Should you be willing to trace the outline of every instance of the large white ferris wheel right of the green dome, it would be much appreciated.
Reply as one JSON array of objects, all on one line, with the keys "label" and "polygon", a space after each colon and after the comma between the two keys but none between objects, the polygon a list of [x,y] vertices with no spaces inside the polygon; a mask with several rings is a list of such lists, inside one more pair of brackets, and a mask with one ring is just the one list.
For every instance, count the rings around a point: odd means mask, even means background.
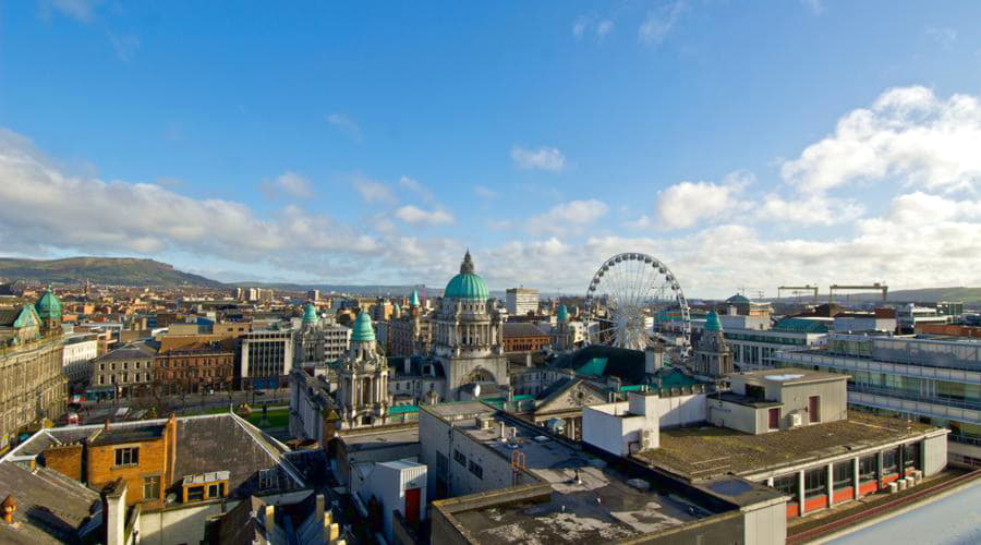
[{"label": "large white ferris wheel right of the green dome", "polygon": [[[644,350],[654,337],[677,339],[688,352],[691,316],[677,277],[647,254],[617,254],[600,266],[586,290],[585,310],[595,325],[588,327],[591,344]],[[666,324],[654,332],[647,319]]]}]

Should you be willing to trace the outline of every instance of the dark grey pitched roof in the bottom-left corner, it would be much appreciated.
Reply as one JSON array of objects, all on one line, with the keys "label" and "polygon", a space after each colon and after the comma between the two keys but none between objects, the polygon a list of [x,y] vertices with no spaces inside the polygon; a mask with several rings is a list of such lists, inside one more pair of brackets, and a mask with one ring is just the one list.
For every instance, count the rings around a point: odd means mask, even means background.
[{"label": "dark grey pitched roof in the bottom-left corner", "polygon": [[[14,463],[0,463],[0,499],[13,494],[17,502],[11,528],[0,522],[0,543],[76,542],[89,517],[101,509],[99,495],[57,471],[35,472]],[[98,516],[100,517],[100,516]]]}]

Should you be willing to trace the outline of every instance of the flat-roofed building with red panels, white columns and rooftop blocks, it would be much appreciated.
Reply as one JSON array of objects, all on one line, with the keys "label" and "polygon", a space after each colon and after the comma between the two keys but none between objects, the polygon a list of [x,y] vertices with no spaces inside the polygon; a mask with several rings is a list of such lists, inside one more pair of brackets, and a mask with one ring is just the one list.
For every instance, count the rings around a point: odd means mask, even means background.
[{"label": "flat-roofed building with red panels, white columns and rooftop blocks", "polygon": [[[947,431],[846,410],[846,377],[783,368],[736,373],[731,390],[669,403],[658,392],[583,409],[583,441],[691,483],[736,475],[789,496],[803,517],[931,476]],[[712,425],[706,425],[712,424]]]}]

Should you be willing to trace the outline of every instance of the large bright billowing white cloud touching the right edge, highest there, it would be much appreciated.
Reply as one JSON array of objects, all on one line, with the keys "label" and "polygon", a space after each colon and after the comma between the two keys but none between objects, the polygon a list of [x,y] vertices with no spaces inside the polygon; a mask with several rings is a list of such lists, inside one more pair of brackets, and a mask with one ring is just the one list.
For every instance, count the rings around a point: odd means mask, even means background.
[{"label": "large bright billowing white cloud touching the right edge, highest there", "polygon": [[927,190],[977,191],[979,142],[978,97],[944,100],[925,87],[899,87],[843,117],[834,134],[784,162],[780,173],[804,192],[892,178]]}]

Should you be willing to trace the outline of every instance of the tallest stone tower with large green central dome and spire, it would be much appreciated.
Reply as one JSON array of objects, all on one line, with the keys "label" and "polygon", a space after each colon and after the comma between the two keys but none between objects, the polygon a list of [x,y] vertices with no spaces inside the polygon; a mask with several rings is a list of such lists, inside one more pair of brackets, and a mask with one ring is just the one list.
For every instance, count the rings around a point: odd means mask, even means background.
[{"label": "tallest stone tower with large green central dome and spire", "polygon": [[501,316],[473,265],[463,256],[460,274],[446,284],[434,317],[433,353],[446,375],[444,400],[459,400],[465,386],[508,385],[508,361],[500,337]]}]

